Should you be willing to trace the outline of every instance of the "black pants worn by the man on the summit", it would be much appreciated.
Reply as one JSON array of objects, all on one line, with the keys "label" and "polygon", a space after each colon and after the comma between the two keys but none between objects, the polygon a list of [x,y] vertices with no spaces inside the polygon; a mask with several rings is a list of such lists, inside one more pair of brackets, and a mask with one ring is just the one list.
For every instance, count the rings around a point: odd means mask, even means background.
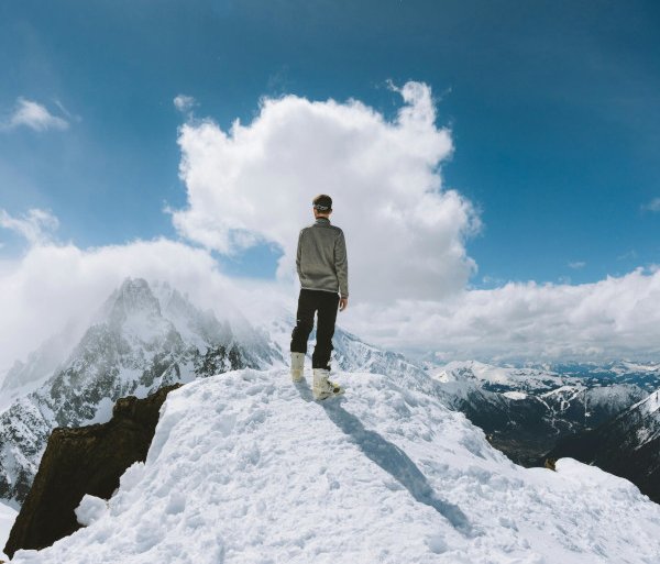
[{"label": "black pants worn by the man on the summit", "polygon": [[311,355],[312,368],[330,369],[332,335],[339,307],[339,294],[300,288],[296,327],[292,333],[292,352],[307,353],[307,340],[314,329],[314,314],[318,311],[317,343]]}]

